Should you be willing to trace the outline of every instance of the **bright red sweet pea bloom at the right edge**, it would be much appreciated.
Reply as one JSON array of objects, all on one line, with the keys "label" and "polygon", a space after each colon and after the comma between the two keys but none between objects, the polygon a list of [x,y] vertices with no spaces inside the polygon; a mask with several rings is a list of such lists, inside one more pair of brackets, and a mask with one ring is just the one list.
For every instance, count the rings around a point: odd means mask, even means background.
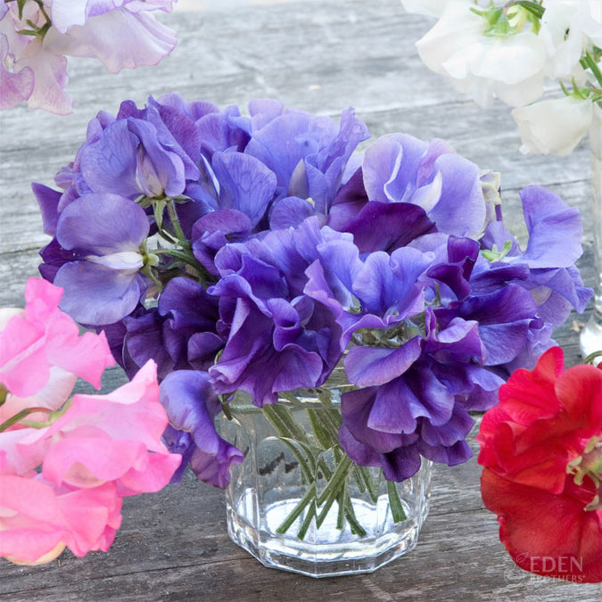
[{"label": "bright red sweet pea bloom at the right edge", "polygon": [[526,571],[602,581],[602,369],[559,347],[499,389],[477,440],[482,499]]}]

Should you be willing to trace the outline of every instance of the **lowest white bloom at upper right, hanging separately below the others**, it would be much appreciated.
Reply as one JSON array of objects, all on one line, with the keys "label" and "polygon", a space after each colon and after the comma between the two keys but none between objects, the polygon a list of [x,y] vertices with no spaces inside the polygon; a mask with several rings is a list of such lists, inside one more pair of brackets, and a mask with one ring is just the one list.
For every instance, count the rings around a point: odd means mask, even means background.
[{"label": "lowest white bloom at upper right, hanging separately below the others", "polygon": [[512,111],[521,133],[522,153],[565,156],[573,153],[590,128],[593,103],[576,96],[564,96],[533,103]]}]

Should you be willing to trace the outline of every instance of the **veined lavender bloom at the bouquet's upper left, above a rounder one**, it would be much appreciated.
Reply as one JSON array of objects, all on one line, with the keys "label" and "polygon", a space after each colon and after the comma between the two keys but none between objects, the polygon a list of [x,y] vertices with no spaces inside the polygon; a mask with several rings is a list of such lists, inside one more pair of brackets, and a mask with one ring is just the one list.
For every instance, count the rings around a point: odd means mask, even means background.
[{"label": "veined lavender bloom at the bouquet's upper left, above a rounder one", "polygon": [[[125,101],[117,118],[101,111],[88,123],[86,143],[75,161],[55,177],[64,192],[33,186],[45,232],[53,234],[62,210],[82,194],[119,194],[134,201],[141,195],[179,197],[188,194],[190,187],[194,200],[179,199],[178,203],[180,226],[190,236],[194,221],[214,209],[210,206],[215,203],[214,184],[210,177],[205,178],[201,137],[194,119],[179,110],[173,96],[166,103],[151,97],[143,109]],[[58,200],[56,194],[60,194]],[[150,208],[148,212],[152,214]],[[169,224],[168,216],[165,221]]]}]

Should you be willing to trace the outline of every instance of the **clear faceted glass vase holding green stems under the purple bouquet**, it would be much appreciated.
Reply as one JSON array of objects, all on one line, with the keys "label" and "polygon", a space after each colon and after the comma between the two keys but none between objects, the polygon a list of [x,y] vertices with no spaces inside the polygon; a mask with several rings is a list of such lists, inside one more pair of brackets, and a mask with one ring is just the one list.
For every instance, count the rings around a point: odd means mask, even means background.
[{"label": "clear faceted glass vase holding green stems under the purple bouquet", "polygon": [[[344,372],[336,370],[339,376]],[[431,462],[388,482],[338,444],[346,383],[287,393],[261,410],[237,395],[223,436],[245,454],[227,488],[232,540],[262,565],[312,577],[371,573],[416,547]]]}]

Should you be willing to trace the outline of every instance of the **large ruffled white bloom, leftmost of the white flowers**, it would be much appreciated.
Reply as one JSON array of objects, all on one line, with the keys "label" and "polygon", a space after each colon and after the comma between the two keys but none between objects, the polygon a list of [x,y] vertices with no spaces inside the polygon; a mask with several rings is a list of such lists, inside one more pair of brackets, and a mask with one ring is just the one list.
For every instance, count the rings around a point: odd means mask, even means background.
[{"label": "large ruffled white bloom, leftmost of the white flowers", "polygon": [[537,100],[548,58],[544,40],[527,28],[485,35],[488,23],[471,7],[465,0],[445,4],[441,19],[416,43],[422,60],[483,107],[494,96],[511,106]]}]

